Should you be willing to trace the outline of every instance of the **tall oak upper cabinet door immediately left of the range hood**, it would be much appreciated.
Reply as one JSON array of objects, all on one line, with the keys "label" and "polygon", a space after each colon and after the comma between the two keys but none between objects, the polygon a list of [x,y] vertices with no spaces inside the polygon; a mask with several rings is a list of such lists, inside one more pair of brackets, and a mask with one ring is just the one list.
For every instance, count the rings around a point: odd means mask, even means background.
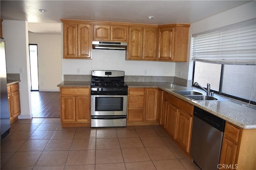
[{"label": "tall oak upper cabinet door immediately left of the range hood", "polygon": [[91,25],[78,24],[78,57],[91,59]]}]

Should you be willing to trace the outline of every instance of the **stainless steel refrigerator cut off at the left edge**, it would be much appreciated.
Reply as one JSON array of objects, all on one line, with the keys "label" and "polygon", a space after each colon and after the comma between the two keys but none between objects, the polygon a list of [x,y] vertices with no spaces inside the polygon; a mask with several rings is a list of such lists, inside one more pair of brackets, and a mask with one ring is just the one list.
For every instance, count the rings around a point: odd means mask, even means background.
[{"label": "stainless steel refrigerator cut off at the left edge", "polygon": [[10,130],[10,114],[9,103],[7,96],[7,79],[6,79],[6,58],[5,58],[5,45],[4,39],[0,38],[0,128],[1,128],[1,141],[9,134]]}]

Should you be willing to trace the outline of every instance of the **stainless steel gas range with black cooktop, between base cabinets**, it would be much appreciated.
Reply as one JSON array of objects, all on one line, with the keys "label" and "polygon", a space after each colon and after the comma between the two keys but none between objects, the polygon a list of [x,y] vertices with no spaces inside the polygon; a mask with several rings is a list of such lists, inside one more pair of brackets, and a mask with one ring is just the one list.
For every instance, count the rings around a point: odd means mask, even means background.
[{"label": "stainless steel gas range with black cooktop, between base cabinets", "polygon": [[91,127],[124,127],[128,86],[124,71],[92,70]]}]

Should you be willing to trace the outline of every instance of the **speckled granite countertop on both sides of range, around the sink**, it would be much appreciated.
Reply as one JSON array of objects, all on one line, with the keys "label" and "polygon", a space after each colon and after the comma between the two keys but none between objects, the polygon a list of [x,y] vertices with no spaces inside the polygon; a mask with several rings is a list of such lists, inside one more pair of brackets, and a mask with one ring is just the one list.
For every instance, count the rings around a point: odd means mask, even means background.
[{"label": "speckled granite countertop on both sides of range, around the sink", "polygon": [[[91,82],[79,82],[79,81],[64,81],[58,84],[58,87],[90,87]],[[165,92],[172,94],[196,107],[200,107],[212,113],[222,119],[241,127],[242,129],[256,129],[256,106],[243,106],[244,102],[239,102],[224,96],[214,94],[216,97],[221,97],[225,100],[223,101],[194,101],[192,99],[186,98],[178,93],[173,92],[173,90],[197,90],[205,94],[204,91],[194,88],[185,87],[179,85],[173,85],[166,82],[126,82],[128,87],[138,87],[138,88],[160,88]]]}]

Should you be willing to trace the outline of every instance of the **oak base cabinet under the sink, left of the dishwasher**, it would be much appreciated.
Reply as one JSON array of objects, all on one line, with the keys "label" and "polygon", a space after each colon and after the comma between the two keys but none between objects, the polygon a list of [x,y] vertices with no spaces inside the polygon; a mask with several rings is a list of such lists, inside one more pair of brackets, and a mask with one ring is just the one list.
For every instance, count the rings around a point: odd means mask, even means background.
[{"label": "oak base cabinet under the sink, left of the dishwasher", "polygon": [[168,94],[166,131],[187,153],[190,151],[194,106]]}]

